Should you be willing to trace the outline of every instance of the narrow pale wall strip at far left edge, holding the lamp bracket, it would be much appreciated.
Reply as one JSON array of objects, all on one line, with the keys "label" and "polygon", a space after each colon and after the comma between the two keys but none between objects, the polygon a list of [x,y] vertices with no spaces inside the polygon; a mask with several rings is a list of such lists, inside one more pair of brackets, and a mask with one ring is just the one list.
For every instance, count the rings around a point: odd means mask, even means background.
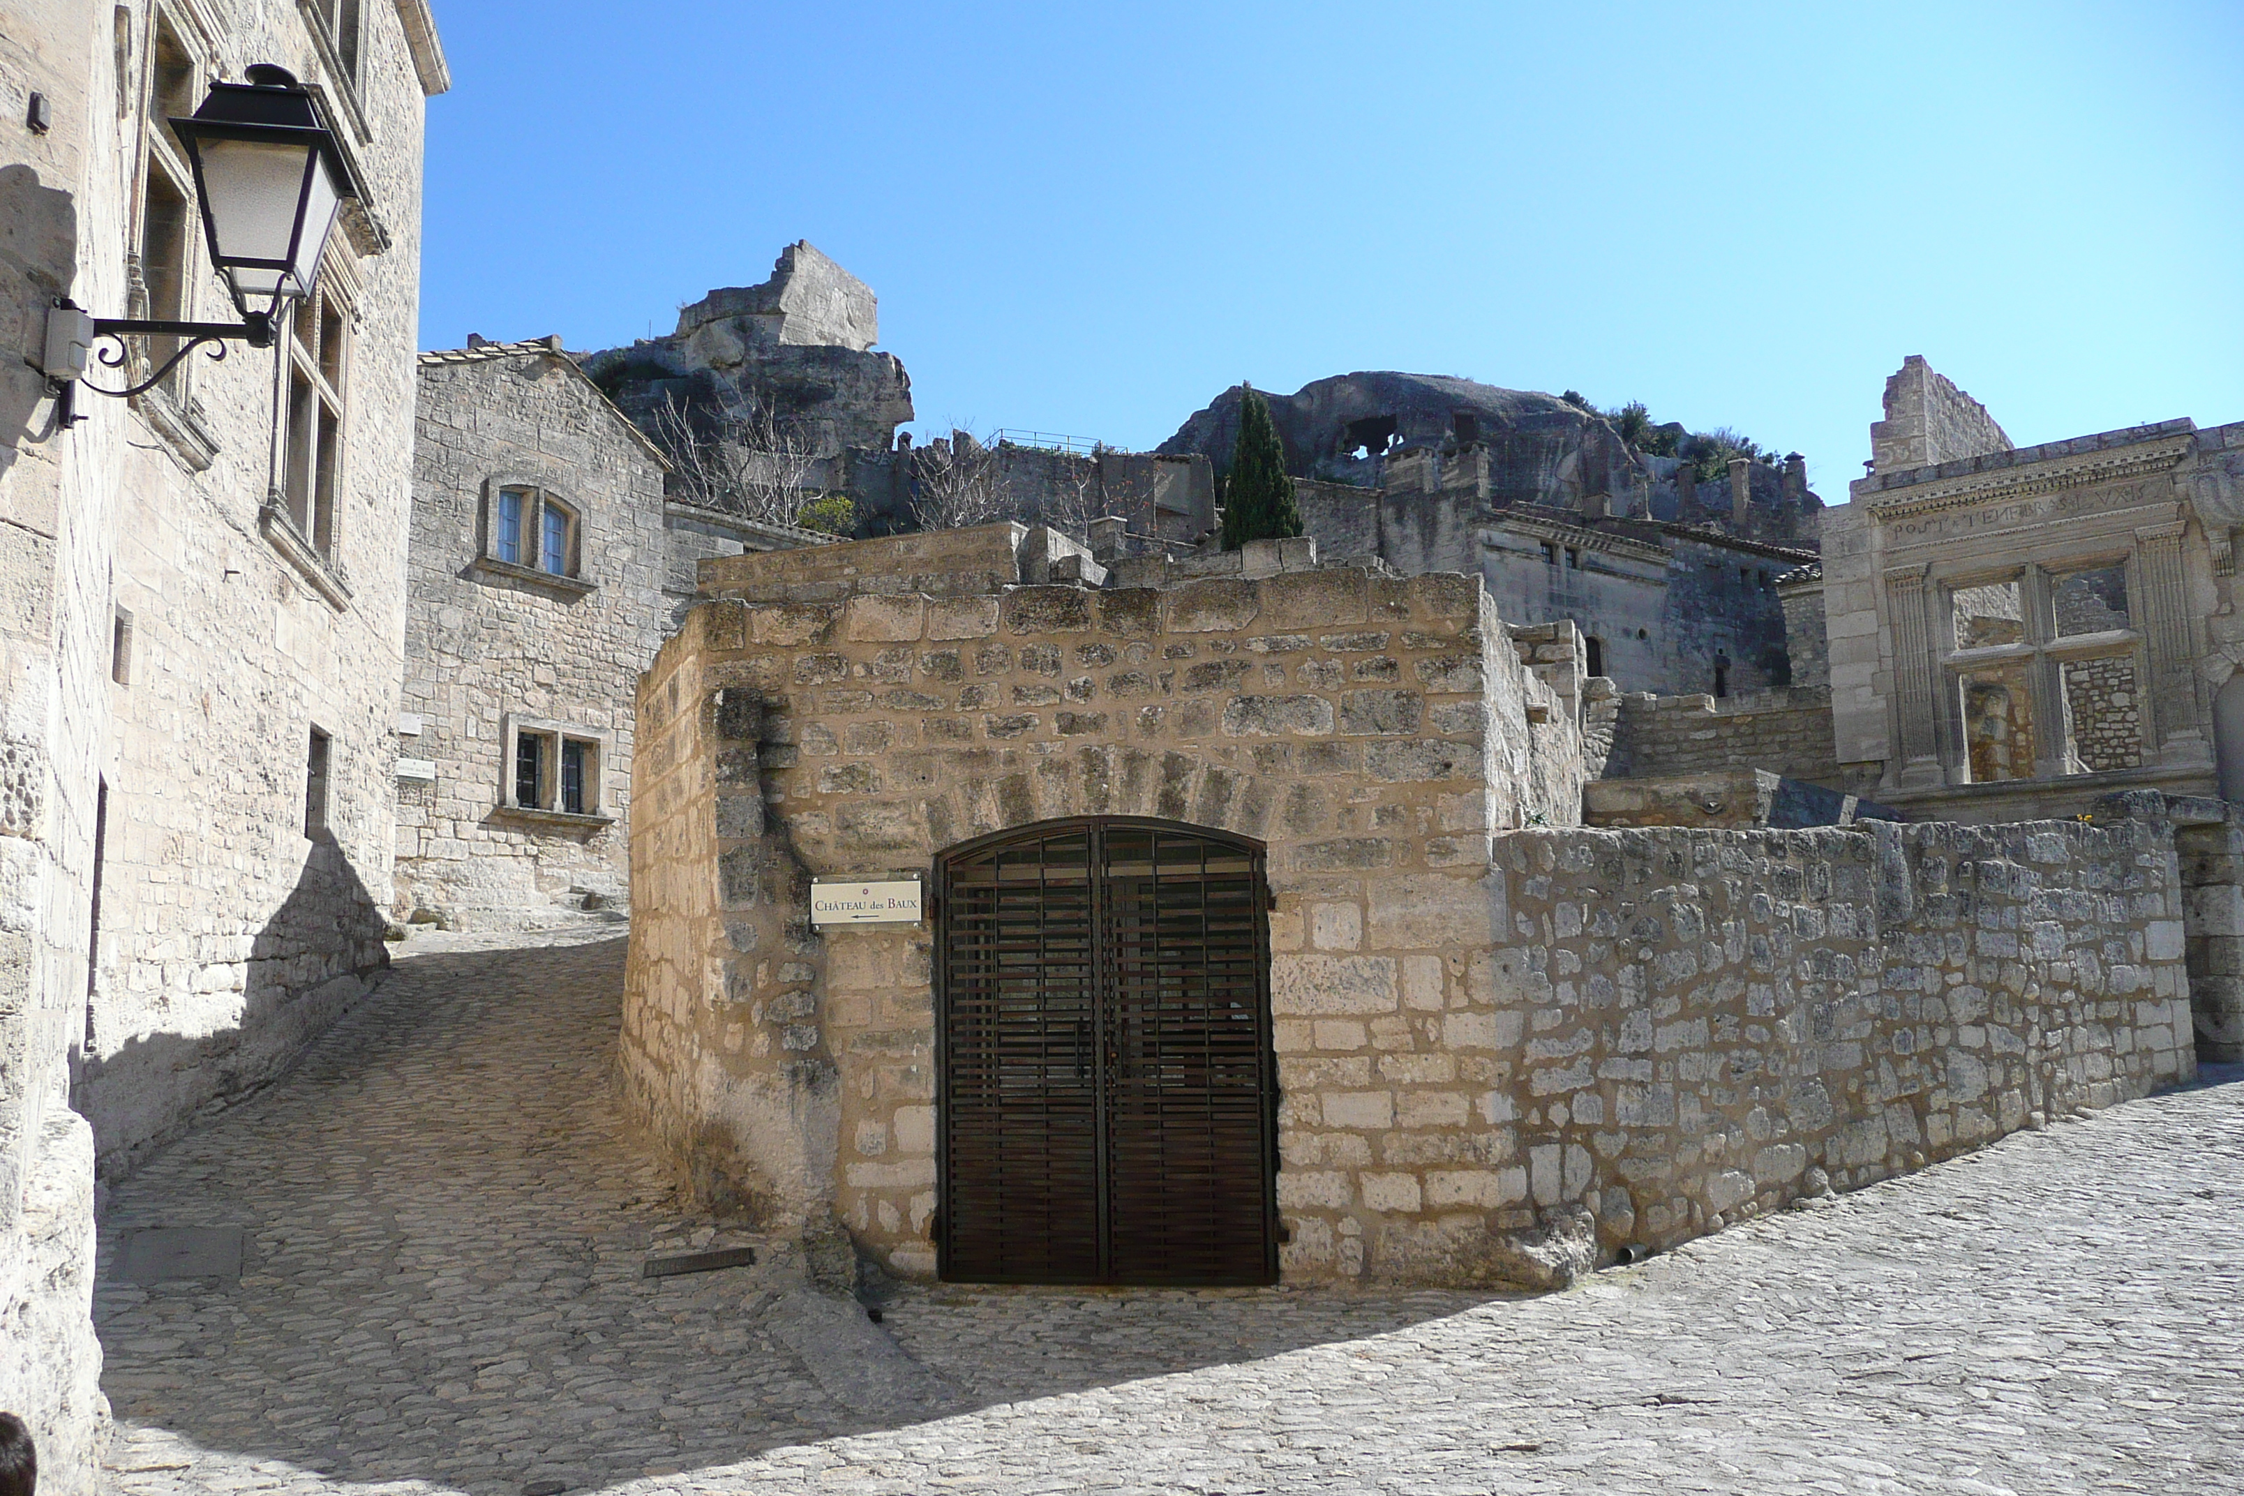
[{"label": "narrow pale wall strip at far left edge, holding the lamp bracket", "polygon": [[[65,431],[38,361],[56,296],[119,305],[121,236],[108,16],[0,0],[0,1409],[20,1413],[43,1487],[94,1489],[108,1424],[94,1339],[94,1139],[70,1083],[85,1034],[88,913],[123,422]],[[56,130],[25,128],[47,96]],[[114,404],[114,401],[112,401]]]}]

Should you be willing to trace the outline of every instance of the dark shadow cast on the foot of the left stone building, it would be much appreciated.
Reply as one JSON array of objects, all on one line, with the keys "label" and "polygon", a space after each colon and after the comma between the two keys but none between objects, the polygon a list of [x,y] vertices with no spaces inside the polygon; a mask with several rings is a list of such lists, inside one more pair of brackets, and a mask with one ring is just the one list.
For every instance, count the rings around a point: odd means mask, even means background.
[{"label": "dark shadow cast on the foot of the left stone building", "polygon": [[[110,897],[110,908],[119,899]],[[119,915],[121,917],[121,915]],[[184,953],[164,962],[193,987],[182,998],[186,1014],[220,1007],[222,991],[200,982],[231,982],[238,967],[240,1012],[229,1027],[209,1034],[146,1034],[121,1047],[83,1059],[74,1083],[76,1110],[94,1126],[99,1175],[112,1184],[141,1160],[197,1126],[238,1106],[283,1077],[337,1018],[368,996],[388,964],[381,942],[386,917],[366,879],[332,837],[312,841],[296,884],[265,924],[249,935],[247,951],[236,938],[209,931],[173,931]],[[166,942],[166,931],[155,931]],[[117,980],[103,973],[103,980]],[[94,1007],[94,1047],[101,1050],[101,1014]]]}]

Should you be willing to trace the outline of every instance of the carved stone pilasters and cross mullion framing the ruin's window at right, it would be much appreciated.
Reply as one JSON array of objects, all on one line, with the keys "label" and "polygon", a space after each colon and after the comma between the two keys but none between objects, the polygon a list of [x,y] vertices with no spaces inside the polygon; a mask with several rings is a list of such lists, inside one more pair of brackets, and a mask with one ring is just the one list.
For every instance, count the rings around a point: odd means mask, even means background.
[{"label": "carved stone pilasters and cross mullion framing the ruin's window at right", "polygon": [[[2127,567],[2127,628],[2112,628],[2094,635],[2058,635],[2056,579],[2100,565]],[[1986,561],[1961,561],[1932,570],[1932,599],[1939,608],[1937,653],[1941,666],[1941,763],[1950,785],[1972,783],[2017,783],[1975,781],[1970,776],[1970,742],[1964,722],[1964,677],[1979,666],[2026,664],[2026,682],[2033,707],[2033,778],[2080,778],[2064,772],[2064,733],[2047,731],[2042,724],[2064,722],[2064,677],[2067,664],[2091,659],[2127,659],[2134,666],[2134,693],[2148,702],[2150,655],[2143,567],[2136,547],[2100,545],[2082,552],[2042,554],[2031,561],[1988,565]],[[2020,615],[2024,641],[1993,644],[1981,648],[1957,648],[1955,641],[1955,594],[1961,588],[1986,588],[2015,581],[2020,590]],[[2156,756],[2156,738],[2150,711],[2136,713],[2136,751],[2143,765]],[[2089,769],[2094,774],[2094,769]]]}]

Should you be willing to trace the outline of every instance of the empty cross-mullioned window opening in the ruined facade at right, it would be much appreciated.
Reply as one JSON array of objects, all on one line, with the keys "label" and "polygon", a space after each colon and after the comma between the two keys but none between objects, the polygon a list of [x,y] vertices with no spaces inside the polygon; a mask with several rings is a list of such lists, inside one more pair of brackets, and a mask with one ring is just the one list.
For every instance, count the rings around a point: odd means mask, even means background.
[{"label": "empty cross-mullioned window opening in the ruined facade at right", "polygon": [[1948,617],[1968,783],[2143,765],[2125,561],[1966,579],[1948,588]]}]

